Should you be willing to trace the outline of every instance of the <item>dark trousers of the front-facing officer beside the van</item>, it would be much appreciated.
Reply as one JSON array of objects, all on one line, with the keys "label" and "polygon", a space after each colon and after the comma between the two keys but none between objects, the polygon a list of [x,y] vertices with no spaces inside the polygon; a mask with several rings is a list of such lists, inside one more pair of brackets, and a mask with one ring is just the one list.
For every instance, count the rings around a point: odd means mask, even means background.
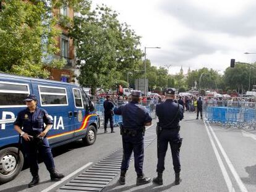
[{"label": "dark trousers of the front-facing officer beside the van", "polygon": [[34,141],[25,141],[22,139],[22,146],[25,154],[27,155],[30,172],[33,177],[38,176],[37,151],[43,157],[43,162],[45,162],[47,170],[50,171],[55,168],[53,154],[51,153],[51,148],[49,147],[47,138],[44,138],[40,144],[36,144]]}]

